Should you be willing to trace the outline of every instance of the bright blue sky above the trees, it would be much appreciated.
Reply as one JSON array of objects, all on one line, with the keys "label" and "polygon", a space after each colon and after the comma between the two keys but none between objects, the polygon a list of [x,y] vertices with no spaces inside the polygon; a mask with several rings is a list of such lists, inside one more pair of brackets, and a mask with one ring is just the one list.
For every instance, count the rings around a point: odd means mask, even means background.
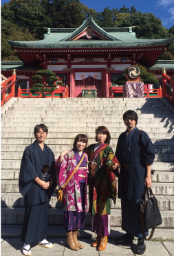
[{"label": "bright blue sky above the trees", "polygon": [[[8,2],[9,0],[1,0],[1,5]],[[165,28],[171,28],[174,25],[174,0],[80,0],[80,2],[89,8],[96,9],[97,12],[102,12],[107,6],[110,9],[113,7],[119,9],[123,5],[128,8],[135,6],[137,11],[151,12],[155,17],[160,18]]]}]

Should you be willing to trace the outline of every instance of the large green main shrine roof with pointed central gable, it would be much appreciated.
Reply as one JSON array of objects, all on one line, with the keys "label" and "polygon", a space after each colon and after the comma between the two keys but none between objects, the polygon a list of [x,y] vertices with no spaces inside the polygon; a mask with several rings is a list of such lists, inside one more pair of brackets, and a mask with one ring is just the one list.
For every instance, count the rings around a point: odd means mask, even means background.
[{"label": "large green main shrine roof with pointed central gable", "polygon": [[[107,40],[84,39],[69,41],[83,32],[87,26],[94,28]],[[47,28],[47,34],[40,41],[8,41],[10,46],[24,48],[127,48],[141,46],[166,46],[173,39],[137,39],[131,27],[100,28],[88,17],[79,28]]]}]

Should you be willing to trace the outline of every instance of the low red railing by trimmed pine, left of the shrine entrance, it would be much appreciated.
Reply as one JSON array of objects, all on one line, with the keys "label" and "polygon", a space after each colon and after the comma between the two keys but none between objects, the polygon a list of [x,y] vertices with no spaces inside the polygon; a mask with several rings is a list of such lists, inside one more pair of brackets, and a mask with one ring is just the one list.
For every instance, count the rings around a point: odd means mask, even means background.
[{"label": "low red railing by trimmed pine, left of the shrine entrance", "polygon": [[[69,89],[67,86],[61,87],[61,88],[54,90],[54,92],[47,92],[46,98],[52,98],[52,97],[67,98],[68,93],[69,93]],[[20,98],[42,98],[43,96],[42,96],[41,92],[32,93],[32,92],[30,92],[30,89],[21,89],[19,86],[17,97],[20,97]]]}]

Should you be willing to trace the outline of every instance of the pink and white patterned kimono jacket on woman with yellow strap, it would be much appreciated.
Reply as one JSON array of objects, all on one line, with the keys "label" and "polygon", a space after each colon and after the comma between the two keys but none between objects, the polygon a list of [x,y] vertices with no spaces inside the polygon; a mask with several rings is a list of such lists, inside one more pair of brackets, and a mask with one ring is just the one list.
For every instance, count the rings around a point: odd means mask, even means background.
[{"label": "pink and white patterned kimono jacket on woman with yellow strap", "polygon": [[[85,153],[83,153],[85,154]],[[83,155],[81,155],[83,157]],[[81,159],[80,157],[80,159]],[[85,160],[87,161],[87,154],[85,154]],[[67,155],[64,156],[63,161],[61,163],[60,173],[59,173],[59,184],[63,187],[69,178],[69,176],[73,173],[74,169],[77,166],[76,156],[74,150],[69,151]],[[80,166],[81,167],[81,166]],[[87,213],[87,175],[88,168],[86,168],[86,186],[85,186],[85,213]],[[75,204],[76,201],[76,204]],[[82,212],[82,200],[80,196],[80,183],[78,177],[78,170],[74,173],[72,179],[68,182],[67,186],[63,189],[63,205],[64,210],[68,211],[78,211]]]}]

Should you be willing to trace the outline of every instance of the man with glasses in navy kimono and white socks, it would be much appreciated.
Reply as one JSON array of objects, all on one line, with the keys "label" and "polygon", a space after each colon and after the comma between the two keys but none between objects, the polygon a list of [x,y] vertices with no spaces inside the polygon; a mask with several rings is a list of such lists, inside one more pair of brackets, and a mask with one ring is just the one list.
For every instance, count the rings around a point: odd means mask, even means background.
[{"label": "man with glasses in navy kimono and white socks", "polygon": [[44,141],[47,137],[47,126],[34,127],[36,141],[25,148],[19,174],[19,190],[25,201],[25,216],[21,233],[23,255],[31,255],[30,244],[52,248],[47,242],[48,207],[54,189],[55,169],[54,154]]}]

